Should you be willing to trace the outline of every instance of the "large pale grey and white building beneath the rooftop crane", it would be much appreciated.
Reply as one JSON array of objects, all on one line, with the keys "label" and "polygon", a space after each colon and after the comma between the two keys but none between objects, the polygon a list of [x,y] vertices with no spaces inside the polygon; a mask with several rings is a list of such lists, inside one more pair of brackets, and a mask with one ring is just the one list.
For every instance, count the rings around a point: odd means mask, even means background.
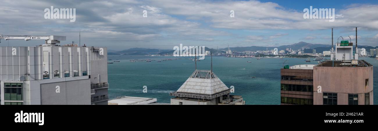
[{"label": "large pale grey and white building beneath the rooftop crane", "polygon": [[107,105],[107,48],[0,47],[1,105]]}]

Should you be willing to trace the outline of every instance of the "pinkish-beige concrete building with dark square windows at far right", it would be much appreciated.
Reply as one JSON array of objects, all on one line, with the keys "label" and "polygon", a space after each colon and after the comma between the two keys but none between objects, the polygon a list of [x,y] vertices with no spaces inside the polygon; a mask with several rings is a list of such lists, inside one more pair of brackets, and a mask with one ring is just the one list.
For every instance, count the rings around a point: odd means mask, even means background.
[{"label": "pinkish-beige concrete building with dark square windows at far right", "polygon": [[359,65],[325,61],[314,66],[314,105],[373,105],[373,66],[358,61]]}]

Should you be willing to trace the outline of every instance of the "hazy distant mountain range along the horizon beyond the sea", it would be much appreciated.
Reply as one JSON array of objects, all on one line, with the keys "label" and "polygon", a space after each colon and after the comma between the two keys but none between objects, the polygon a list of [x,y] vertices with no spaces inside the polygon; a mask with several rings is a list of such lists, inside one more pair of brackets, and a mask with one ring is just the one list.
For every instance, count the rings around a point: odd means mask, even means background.
[{"label": "hazy distant mountain range along the horizon beyond the sea", "polygon": [[[355,47],[355,46],[354,46]],[[285,50],[287,48],[291,48],[292,50],[298,50],[298,49],[304,49],[304,53],[312,53],[312,49],[316,49],[316,53],[322,53],[323,51],[330,51],[331,45],[324,45],[324,44],[311,44],[306,42],[298,42],[293,45],[283,45],[278,47],[264,47],[264,46],[249,46],[249,47],[230,47],[231,51],[237,51],[237,52],[243,52],[243,51],[266,51],[272,50],[274,48],[277,48],[278,50]],[[358,45],[358,48],[365,48],[366,51],[370,51],[370,49],[376,49],[378,46],[364,46],[364,45]],[[223,50],[223,51],[222,51]],[[219,52],[219,53],[225,53],[228,48],[223,49],[210,49],[205,47],[205,51],[212,51],[213,53]],[[149,48],[130,48],[125,49],[122,51],[115,51],[115,50],[108,50],[108,55],[118,55],[118,54],[130,54],[130,55],[136,55],[136,54],[173,54],[173,49],[149,49]]]}]

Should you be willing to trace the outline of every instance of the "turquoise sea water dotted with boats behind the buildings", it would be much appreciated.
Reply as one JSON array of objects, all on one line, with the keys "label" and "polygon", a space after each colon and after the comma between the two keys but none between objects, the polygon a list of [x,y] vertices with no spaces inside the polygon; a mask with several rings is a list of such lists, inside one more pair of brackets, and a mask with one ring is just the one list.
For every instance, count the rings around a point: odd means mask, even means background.
[{"label": "turquoise sea water dotted with boats behind the buildings", "polygon": [[[160,59],[175,59],[157,62]],[[176,91],[194,72],[192,57],[173,56],[144,56],[144,55],[108,55],[109,62],[118,59],[120,62],[108,64],[108,82],[110,98],[117,96],[133,96],[157,98],[160,103],[170,103],[169,92]],[[151,59],[152,62],[129,60]],[[378,60],[373,58],[359,58],[374,66],[374,91],[378,84]],[[280,104],[280,69],[283,62],[288,65],[317,64],[305,62],[304,58],[231,58],[213,56],[213,71],[226,84],[234,86],[233,95],[241,95],[249,105],[279,105]],[[210,57],[197,62],[197,69],[210,69]],[[251,61],[252,63],[247,63]],[[251,78],[251,77],[256,78]],[[147,93],[143,93],[143,86],[147,86]],[[374,104],[377,95],[374,93]]]}]

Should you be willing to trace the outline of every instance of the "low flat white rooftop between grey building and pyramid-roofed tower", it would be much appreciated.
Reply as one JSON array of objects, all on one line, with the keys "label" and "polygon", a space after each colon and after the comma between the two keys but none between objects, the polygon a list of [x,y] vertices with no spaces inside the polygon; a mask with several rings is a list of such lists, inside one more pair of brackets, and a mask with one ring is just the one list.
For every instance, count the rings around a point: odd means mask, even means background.
[{"label": "low flat white rooftop between grey building and pyramid-roofed tower", "polygon": [[108,100],[108,105],[147,105],[156,101],[156,98],[123,96]]}]

